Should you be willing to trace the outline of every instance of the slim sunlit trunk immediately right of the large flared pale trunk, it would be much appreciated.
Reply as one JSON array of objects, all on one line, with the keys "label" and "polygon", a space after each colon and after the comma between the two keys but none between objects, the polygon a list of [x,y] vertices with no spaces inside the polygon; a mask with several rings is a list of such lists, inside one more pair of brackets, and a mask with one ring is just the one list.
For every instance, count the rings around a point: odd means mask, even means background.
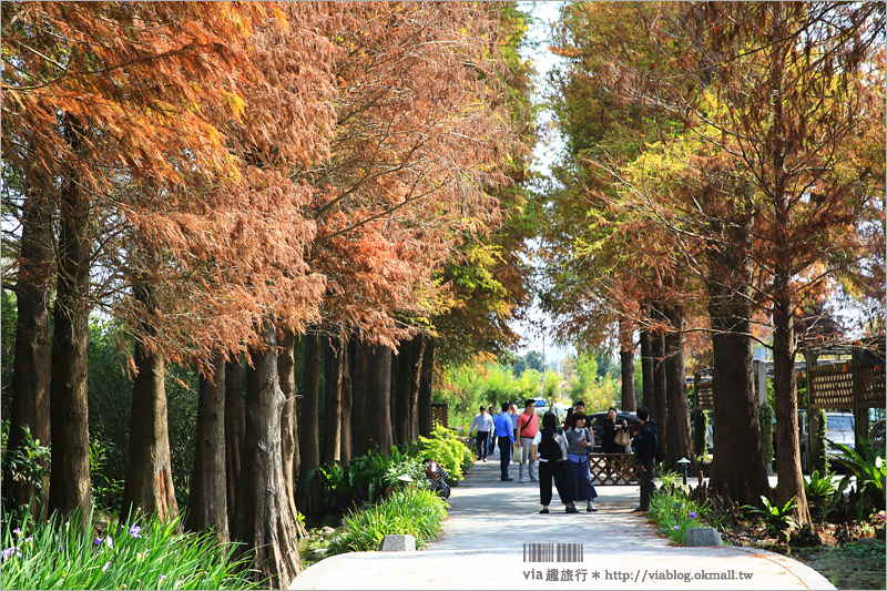
[{"label": "slim sunlit trunk immediately right of the large flared pale trunk", "polygon": [[296,420],[296,336],[285,330],[277,354],[277,379],[284,396],[281,411],[281,456],[283,458],[286,499],[296,513],[296,476],[298,475],[298,426]]}]

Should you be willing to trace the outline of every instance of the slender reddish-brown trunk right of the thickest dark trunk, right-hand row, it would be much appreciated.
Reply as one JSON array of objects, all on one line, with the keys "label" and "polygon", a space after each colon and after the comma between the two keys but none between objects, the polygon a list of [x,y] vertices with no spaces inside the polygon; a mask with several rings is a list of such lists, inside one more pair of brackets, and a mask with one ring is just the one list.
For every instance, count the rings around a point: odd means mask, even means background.
[{"label": "slender reddish-brown trunk right of the thickest dark trunk, right-hand row", "polygon": [[[787,275],[776,271],[776,297],[773,305],[773,394],[776,411],[776,497],[784,506],[793,497],[797,503],[794,518],[798,526],[810,522],[801,470],[801,444],[797,435],[797,389],[795,383],[794,326]],[[717,420],[715,419],[715,429]]]}]

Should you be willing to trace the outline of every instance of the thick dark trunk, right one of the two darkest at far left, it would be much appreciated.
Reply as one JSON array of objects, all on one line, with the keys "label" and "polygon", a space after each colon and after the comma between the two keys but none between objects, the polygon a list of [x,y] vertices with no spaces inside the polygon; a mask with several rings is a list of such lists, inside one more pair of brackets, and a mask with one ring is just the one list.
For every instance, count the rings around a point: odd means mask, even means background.
[{"label": "thick dark trunk, right one of the two darkest at far left", "polygon": [[[77,153],[82,128],[65,116],[65,134]],[[59,273],[53,306],[50,377],[51,452],[49,509],[89,516],[90,430],[86,385],[89,371],[89,197],[70,174],[61,196]],[[82,520],[86,527],[86,519]]]}]

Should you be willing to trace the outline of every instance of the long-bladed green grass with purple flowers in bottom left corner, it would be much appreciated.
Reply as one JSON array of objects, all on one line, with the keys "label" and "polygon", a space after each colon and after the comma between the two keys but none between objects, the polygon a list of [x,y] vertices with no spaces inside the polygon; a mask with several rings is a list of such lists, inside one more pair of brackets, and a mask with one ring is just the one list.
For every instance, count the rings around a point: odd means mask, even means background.
[{"label": "long-bladed green grass with purple flowers in bottom left corner", "polygon": [[[92,522],[92,520],[90,520]],[[3,589],[255,589],[252,559],[212,534],[176,533],[177,520],[141,527],[111,521],[81,532],[74,521],[10,523],[2,532]],[[18,530],[18,531],[17,531]]]}]

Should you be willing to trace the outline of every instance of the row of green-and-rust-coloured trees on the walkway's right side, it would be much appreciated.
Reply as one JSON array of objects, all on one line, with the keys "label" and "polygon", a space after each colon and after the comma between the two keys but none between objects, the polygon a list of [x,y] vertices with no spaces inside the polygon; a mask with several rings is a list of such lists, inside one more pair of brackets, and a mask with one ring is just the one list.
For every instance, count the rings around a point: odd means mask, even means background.
[{"label": "row of green-and-rust-coloured trees on the walkway's right side", "polygon": [[640,332],[643,401],[672,462],[693,457],[684,336],[708,336],[712,486],[741,502],[768,490],[752,353],[769,346],[777,497],[796,498],[798,523],[795,354],[837,297],[884,330],[884,17],[877,3],[577,2],[554,31],[565,150],[544,201],[543,304],[564,334],[618,334],[626,361]]}]

